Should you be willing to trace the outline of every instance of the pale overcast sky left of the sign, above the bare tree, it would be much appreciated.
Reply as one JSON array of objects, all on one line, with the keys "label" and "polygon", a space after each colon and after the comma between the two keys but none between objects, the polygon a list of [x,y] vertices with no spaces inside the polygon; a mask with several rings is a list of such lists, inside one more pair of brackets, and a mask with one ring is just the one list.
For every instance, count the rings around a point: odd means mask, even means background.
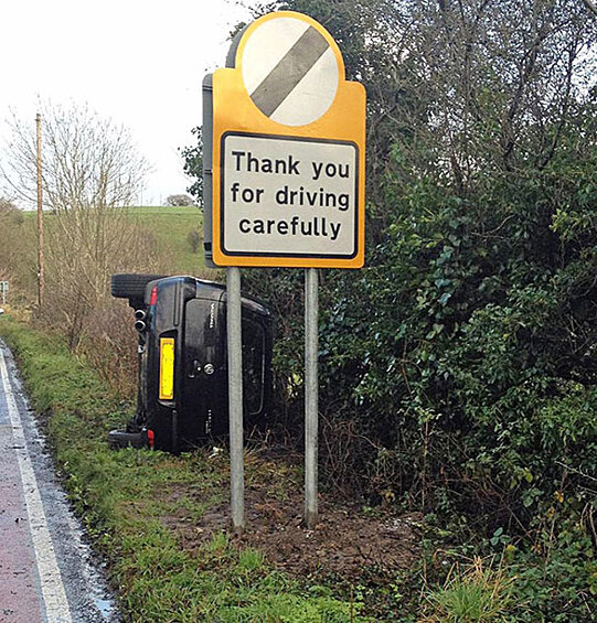
[{"label": "pale overcast sky left of the sign, above the bare tree", "polygon": [[[189,185],[178,148],[201,125],[201,83],[254,0],[0,0],[0,144],[12,108],[87,103],[127,126],[153,167],[142,203]],[[0,152],[1,152],[0,147]]]}]

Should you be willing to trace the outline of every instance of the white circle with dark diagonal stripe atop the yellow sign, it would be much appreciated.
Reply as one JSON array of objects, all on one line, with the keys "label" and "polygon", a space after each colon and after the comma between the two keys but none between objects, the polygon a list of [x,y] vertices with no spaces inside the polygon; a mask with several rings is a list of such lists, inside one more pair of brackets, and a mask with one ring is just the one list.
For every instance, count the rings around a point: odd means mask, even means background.
[{"label": "white circle with dark diagonal stripe atop the yellow sign", "polygon": [[338,90],[340,68],[329,41],[296,18],[259,24],[245,43],[241,65],[255,106],[285,126],[316,121],[328,111]]}]

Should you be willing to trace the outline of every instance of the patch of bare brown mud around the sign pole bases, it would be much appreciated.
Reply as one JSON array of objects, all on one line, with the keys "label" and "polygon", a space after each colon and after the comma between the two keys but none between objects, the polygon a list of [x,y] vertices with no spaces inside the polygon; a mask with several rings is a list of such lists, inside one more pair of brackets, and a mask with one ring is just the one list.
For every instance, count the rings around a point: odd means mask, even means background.
[{"label": "patch of bare brown mud around the sign pole bases", "polygon": [[[241,548],[259,549],[266,560],[294,577],[340,576],[344,580],[406,569],[419,556],[420,515],[364,512],[356,504],[320,496],[320,522],[309,530],[302,523],[302,496],[271,495],[265,486],[245,492],[246,529],[233,538]],[[230,528],[230,505],[207,509],[195,523],[180,509],[162,520],[173,529],[186,550],[194,550]]]}]

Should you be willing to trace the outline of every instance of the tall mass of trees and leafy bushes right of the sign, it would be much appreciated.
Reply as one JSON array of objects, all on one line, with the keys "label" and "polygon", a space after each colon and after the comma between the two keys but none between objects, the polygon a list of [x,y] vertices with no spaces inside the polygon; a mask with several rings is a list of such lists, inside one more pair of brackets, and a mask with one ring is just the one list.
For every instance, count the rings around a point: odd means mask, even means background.
[{"label": "tall mass of trees and leafy bushes right of the sign", "polygon": [[[580,0],[267,9],[326,25],[367,89],[369,268],[327,272],[320,289],[327,466],[380,486],[382,456],[384,486],[427,507],[429,483],[451,479],[476,504],[501,495],[530,520],[540,498],[521,481],[527,456],[551,494],[566,453],[584,473],[595,456],[558,431],[575,400],[589,431],[597,400],[597,21]],[[284,310],[276,356],[300,378],[300,279],[275,269],[244,282]],[[495,431],[514,429],[503,453]]]}]

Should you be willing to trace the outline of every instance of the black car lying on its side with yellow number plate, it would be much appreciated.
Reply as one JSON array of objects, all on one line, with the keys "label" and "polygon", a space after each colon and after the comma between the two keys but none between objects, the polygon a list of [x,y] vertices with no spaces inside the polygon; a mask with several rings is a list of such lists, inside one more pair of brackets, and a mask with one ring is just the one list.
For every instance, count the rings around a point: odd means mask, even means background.
[{"label": "black car lying on its side with yellow number plate", "polygon": [[[114,448],[178,453],[228,432],[226,289],[194,277],[114,275],[111,294],[135,310],[137,412]],[[271,393],[271,313],[243,297],[243,400],[246,426],[262,426]]]}]

